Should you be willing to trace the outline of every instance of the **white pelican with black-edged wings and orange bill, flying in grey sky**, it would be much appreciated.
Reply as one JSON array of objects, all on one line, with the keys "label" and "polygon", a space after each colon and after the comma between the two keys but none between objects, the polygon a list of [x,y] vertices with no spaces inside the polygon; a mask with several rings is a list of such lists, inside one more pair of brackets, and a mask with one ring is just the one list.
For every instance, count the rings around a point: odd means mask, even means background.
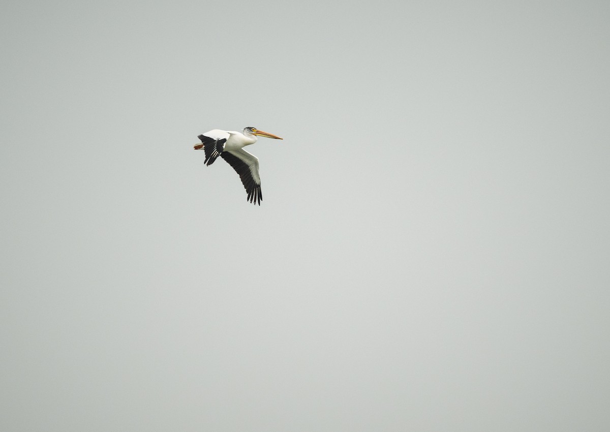
[{"label": "white pelican with black-edged wings and orange bill, flying in grey sky", "polygon": [[260,206],[263,195],[260,192],[259,158],[243,149],[246,145],[256,143],[257,136],[283,140],[277,135],[259,131],[256,128],[245,128],[243,134],[242,132],[212,129],[212,131],[198,135],[197,138],[201,140],[201,144],[195,144],[194,148],[195,150],[203,148],[206,152],[206,160],[204,160],[206,165],[212,165],[218,156],[226,160],[242,179],[243,187],[248,193],[246,201]]}]

